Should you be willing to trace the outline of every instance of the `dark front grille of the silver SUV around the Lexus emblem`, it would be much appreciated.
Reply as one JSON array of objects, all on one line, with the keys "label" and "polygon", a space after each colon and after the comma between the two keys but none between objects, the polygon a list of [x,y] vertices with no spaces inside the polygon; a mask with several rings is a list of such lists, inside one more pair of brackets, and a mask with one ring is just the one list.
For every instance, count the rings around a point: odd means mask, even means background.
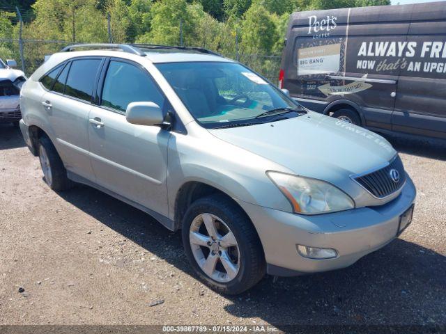
[{"label": "dark front grille of the silver SUV around the Lexus emblem", "polygon": [[[392,170],[397,170],[399,174],[397,182],[392,180]],[[395,176],[394,172],[393,174]],[[404,182],[406,182],[406,172],[404,171],[403,162],[397,155],[390,161],[389,165],[372,173],[355,177],[355,181],[376,198],[385,198],[403,186]]]}]

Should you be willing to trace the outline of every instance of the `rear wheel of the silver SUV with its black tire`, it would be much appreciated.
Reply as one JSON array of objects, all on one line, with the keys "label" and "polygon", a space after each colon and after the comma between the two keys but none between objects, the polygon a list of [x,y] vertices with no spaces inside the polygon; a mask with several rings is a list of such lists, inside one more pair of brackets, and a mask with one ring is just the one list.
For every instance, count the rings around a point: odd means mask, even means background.
[{"label": "rear wheel of the silver SUV with its black tire", "polygon": [[67,170],[63,166],[61,157],[47,136],[39,138],[38,154],[45,182],[49,188],[54,191],[71,189],[73,182],[68,180]]}]

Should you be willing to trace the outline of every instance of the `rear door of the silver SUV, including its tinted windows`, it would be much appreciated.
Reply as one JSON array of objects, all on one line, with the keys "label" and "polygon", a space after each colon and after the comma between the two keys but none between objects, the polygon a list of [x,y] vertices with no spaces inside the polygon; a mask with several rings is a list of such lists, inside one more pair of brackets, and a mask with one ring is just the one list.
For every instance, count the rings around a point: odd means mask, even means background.
[{"label": "rear door of the silver SUV, including its tinted windows", "polygon": [[48,90],[41,103],[56,136],[54,144],[66,168],[89,180],[94,180],[94,176],[89,157],[88,118],[102,60],[77,58],[41,80]]}]

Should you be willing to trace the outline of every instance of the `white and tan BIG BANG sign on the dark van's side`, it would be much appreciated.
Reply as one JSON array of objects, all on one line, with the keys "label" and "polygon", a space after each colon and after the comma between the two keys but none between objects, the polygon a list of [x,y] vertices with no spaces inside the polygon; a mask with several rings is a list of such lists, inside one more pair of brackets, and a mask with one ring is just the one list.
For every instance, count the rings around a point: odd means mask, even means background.
[{"label": "white and tan BIG BANG sign on the dark van's side", "polygon": [[298,75],[339,72],[340,59],[340,43],[299,49]]}]

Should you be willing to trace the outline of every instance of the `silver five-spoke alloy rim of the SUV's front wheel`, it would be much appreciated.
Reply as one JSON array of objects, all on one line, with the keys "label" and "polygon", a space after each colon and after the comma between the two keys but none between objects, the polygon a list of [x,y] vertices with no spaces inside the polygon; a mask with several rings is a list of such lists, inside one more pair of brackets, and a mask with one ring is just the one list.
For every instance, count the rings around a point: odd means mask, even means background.
[{"label": "silver five-spoke alloy rim of the SUV's front wheel", "polygon": [[189,230],[195,261],[207,276],[220,283],[236,278],[240,269],[240,250],[236,237],[222,219],[199,214]]}]

